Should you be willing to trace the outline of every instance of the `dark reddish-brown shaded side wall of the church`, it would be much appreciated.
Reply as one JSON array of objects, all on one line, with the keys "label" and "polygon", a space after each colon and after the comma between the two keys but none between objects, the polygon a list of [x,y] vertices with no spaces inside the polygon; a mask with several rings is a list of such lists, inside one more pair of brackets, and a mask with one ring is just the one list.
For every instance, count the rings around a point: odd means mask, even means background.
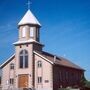
[{"label": "dark reddish-brown shaded side wall of the church", "polygon": [[83,71],[79,69],[55,65],[53,67],[53,88],[79,87]]}]

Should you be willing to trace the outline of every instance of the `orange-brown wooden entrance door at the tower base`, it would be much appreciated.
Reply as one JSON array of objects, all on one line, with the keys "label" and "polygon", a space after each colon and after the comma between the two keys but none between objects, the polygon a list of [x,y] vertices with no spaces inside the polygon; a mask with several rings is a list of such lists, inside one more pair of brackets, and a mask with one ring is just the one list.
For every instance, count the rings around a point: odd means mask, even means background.
[{"label": "orange-brown wooden entrance door at the tower base", "polygon": [[19,75],[18,76],[18,87],[27,88],[28,87],[28,75]]}]

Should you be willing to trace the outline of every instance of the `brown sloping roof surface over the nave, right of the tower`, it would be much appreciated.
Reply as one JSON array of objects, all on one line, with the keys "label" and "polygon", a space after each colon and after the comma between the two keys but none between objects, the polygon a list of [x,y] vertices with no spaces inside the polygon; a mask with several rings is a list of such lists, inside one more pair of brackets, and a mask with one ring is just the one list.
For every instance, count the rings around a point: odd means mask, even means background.
[{"label": "brown sloping roof surface over the nave, right of the tower", "polygon": [[52,63],[56,64],[56,65],[60,65],[60,66],[65,66],[65,67],[70,67],[70,68],[75,68],[75,69],[79,69],[79,70],[83,70],[80,66],[72,63],[71,61],[67,60],[66,58],[63,58],[61,56],[56,56],[53,54],[50,54],[48,52],[37,52],[40,55],[42,55],[43,57],[47,58],[48,60],[50,60]]}]

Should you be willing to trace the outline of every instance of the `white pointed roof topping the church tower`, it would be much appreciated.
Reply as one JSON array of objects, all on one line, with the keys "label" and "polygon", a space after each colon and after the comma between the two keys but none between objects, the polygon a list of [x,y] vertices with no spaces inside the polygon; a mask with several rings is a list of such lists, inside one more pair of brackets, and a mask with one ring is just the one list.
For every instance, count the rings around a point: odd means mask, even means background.
[{"label": "white pointed roof topping the church tower", "polygon": [[19,26],[20,25],[24,25],[24,24],[34,24],[34,25],[41,26],[41,24],[39,23],[39,21],[36,19],[36,17],[33,15],[33,13],[30,10],[28,10],[26,12],[26,14],[24,15],[24,17],[18,23]]}]

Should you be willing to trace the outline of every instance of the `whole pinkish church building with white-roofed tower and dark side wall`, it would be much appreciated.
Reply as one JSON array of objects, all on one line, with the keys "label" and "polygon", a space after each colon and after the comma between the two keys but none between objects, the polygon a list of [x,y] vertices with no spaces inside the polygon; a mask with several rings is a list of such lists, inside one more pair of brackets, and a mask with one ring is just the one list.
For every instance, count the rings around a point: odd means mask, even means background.
[{"label": "whole pinkish church building with white-roofed tower and dark side wall", "polygon": [[84,69],[71,61],[43,51],[41,24],[28,10],[18,23],[15,53],[0,65],[2,90],[58,90],[80,87]]}]

